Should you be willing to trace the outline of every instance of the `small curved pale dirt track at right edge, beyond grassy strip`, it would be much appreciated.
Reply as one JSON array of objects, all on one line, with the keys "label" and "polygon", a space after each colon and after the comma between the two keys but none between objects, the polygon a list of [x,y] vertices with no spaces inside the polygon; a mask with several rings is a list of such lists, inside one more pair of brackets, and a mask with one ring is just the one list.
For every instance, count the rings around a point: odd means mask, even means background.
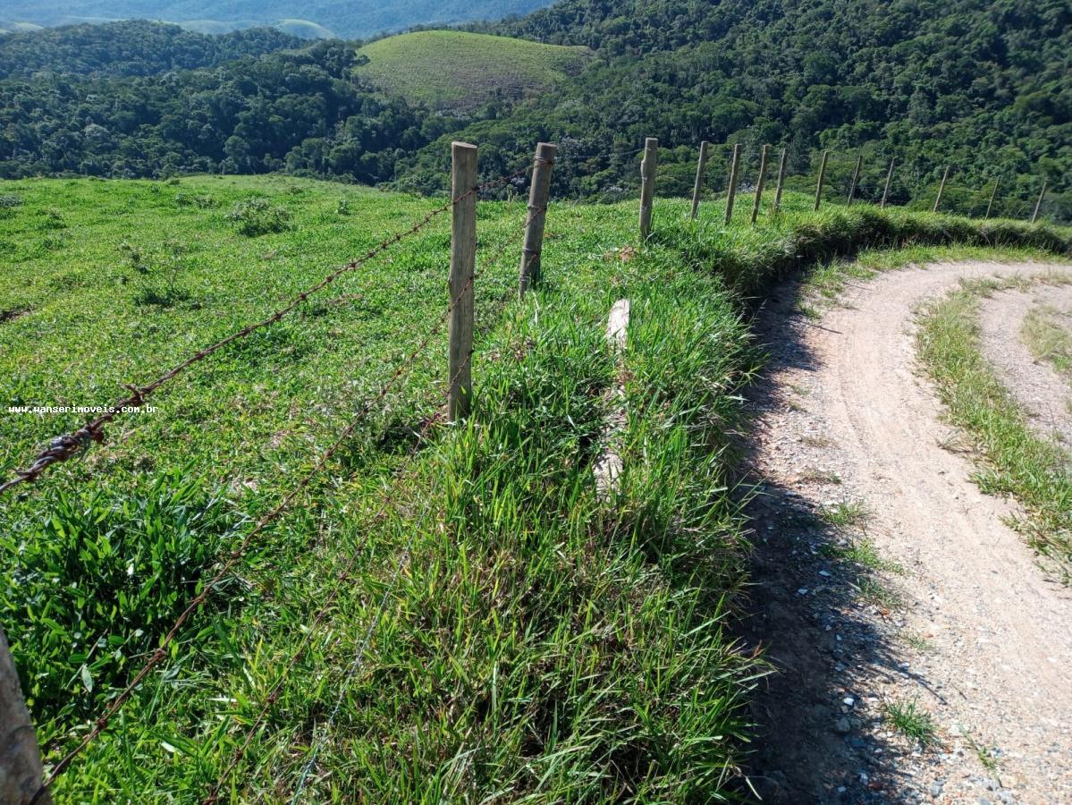
[{"label": "small curved pale dirt track at right edge, beyond grassy strip", "polygon": [[1072,445],[1072,387],[1052,364],[1034,360],[1021,334],[1024,316],[1043,307],[1072,317],[1072,285],[999,290],[984,299],[980,311],[983,356],[1037,430]]}]

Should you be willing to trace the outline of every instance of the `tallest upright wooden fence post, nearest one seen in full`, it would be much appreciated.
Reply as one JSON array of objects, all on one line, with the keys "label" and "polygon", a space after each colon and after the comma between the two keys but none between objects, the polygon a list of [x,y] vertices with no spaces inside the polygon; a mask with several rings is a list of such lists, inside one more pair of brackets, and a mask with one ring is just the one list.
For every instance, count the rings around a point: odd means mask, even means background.
[{"label": "tallest upright wooden fence post, nearest one seen in full", "polygon": [[476,271],[476,146],[451,143],[450,220],[450,391],[447,416],[464,419],[473,396],[473,280]]}]

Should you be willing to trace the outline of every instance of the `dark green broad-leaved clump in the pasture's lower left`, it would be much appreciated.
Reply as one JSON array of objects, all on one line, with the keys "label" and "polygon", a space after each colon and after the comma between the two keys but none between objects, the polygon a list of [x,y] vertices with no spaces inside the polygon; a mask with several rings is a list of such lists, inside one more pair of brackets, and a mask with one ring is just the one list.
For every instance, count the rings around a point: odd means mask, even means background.
[{"label": "dark green broad-leaved clump in the pasture's lower left", "polygon": [[230,516],[200,481],[59,493],[47,519],[0,538],[0,616],[39,718],[88,713],[151,651],[218,554]]}]

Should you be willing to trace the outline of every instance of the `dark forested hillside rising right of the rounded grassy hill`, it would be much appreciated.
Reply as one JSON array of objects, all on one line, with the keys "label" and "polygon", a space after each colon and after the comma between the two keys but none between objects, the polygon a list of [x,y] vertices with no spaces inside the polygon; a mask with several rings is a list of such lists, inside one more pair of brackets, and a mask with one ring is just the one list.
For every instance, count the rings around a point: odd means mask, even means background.
[{"label": "dark forested hillside rising right of the rounded grassy hill", "polygon": [[597,53],[580,103],[533,117],[548,130],[865,147],[923,177],[950,162],[1069,190],[1068,0],[560,0],[475,29]]}]

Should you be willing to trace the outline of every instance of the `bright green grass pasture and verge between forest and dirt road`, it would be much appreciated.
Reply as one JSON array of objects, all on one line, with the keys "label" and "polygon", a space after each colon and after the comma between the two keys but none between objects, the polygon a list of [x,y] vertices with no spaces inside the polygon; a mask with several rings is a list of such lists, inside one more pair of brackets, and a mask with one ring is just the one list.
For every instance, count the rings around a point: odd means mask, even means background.
[{"label": "bright green grass pasture and verge between forest and dirt road", "polygon": [[[0,196],[4,476],[83,421],[9,405],[107,404],[437,204],[276,177],[27,180]],[[57,797],[199,800],[307,633],[225,800],[289,801],[314,746],[304,802],[731,797],[764,670],[726,631],[746,581],[730,434],[760,363],[743,297],[864,245],[1072,243],[809,206],[790,195],[777,220],[727,229],[718,205],[695,225],[662,200],[637,248],[634,202],[555,205],[546,282],[518,302],[524,203],[481,203],[474,414],[418,442],[446,381],[443,333],[407,359],[447,301],[441,217],[0,501],[0,618],[55,762],[250,519],[405,367]],[[604,327],[622,297],[620,369]],[[592,464],[616,377],[625,473],[605,501]]]}]

